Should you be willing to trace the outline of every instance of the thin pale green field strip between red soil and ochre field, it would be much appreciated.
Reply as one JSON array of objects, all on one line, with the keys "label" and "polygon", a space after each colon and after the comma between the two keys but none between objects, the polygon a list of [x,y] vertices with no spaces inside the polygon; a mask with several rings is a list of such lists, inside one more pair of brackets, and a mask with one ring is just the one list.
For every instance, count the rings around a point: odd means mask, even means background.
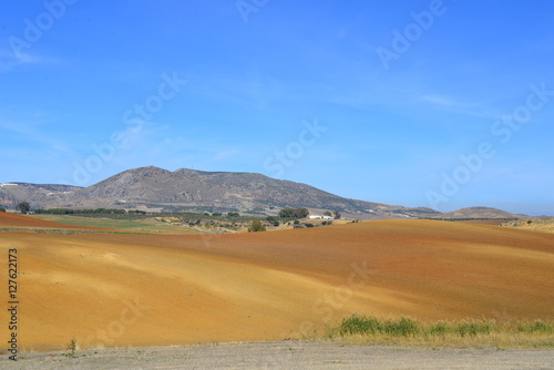
[{"label": "thin pale green field strip between red soil and ochre field", "polygon": [[62,223],[75,226],[89,226],[99,228],[111,228],[144,234],[176,234],[191,235],[203,234],[196,229],[186,226],[160,223],[155,219],[113,219],[98,217],[79,217],[69,215],[32,215],[31,217]]}]

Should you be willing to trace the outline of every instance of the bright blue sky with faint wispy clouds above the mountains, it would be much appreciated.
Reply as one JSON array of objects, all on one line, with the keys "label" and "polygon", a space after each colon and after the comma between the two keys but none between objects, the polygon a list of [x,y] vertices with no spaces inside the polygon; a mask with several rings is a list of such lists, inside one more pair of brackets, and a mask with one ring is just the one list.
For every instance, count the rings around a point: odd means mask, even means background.
[{"label": "bright blue sky with faint wispy clouds above the mountains", "polygon": [[550,1],[9,1],[0,182],[263,173],[554,215]]}]

